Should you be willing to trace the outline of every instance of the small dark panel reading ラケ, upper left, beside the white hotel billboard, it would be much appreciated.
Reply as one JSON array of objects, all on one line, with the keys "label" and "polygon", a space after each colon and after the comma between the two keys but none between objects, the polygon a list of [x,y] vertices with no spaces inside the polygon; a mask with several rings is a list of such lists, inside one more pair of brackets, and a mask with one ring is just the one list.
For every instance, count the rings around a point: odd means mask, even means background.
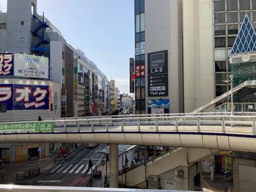
[{"label": "small dark panel reading \u30e9\u30b1, upper left, beside the white hotel billboard", "polygon": [[14,75],[14,54],[0,54],[0,77]]}]

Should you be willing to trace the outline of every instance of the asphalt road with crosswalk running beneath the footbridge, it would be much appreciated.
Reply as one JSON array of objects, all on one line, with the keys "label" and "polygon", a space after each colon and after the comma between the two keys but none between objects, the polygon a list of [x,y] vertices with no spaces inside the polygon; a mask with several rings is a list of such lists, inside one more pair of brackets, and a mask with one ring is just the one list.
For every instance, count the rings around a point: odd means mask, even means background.
[{"label": "asphalt road with crosswalk running beneath the footbridge", "polygon": [[37,178],[27,180],[33,186],[87,186],[91,179],[91,170],[88,170],[88,161],[92,160],[93,165],[101,163],[102,154],[96,152],[104,145],[95,148],[88,148],[83,145],[76,150],[67,162],[65,159],[55,164],[47,173]]}]

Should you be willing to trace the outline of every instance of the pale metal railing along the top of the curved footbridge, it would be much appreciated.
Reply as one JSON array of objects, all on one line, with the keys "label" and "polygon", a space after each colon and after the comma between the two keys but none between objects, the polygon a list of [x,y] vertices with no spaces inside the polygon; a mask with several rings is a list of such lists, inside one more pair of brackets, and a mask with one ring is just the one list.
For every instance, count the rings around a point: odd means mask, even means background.
[{"label": "pale metal railing along the top of the curved footbridge", "polygon": [[[232,132],[256,134],[256,116],[141,116],[104,119],[61,119],[50,122],[52,129],[15,129],[12,123],[0,123],[0,133],[12,132]],[[46,124],[21,122],[20,124]],[[7,125],[11,126],[8,127]],[[6,127],[6,129],[4,128]],[[29,126],[28,126],[29,127]]]}]

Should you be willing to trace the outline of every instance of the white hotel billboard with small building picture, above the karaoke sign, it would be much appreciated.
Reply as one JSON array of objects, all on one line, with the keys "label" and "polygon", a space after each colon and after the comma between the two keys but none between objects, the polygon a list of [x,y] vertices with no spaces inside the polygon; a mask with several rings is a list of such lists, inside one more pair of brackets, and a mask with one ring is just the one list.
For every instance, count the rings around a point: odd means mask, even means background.
[{"label": "white hotel billboard with small building picture, above the karaoke sign", "polygon": [[14,76],[49,78],[48,58],[35,55],[14,54]]}]

